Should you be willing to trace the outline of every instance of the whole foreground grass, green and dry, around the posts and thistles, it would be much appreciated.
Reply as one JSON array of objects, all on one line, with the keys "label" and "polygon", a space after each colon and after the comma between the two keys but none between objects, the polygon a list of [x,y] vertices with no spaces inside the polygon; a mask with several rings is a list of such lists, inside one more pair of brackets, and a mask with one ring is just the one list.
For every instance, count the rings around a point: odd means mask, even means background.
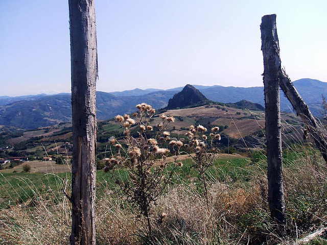
[{"label": "whole foreground grass, green and dry, around the posts and thistles", "polygon": [[[312,149],[285,151],[288,224],[278,233],[267,204],[266,161],[222,155],[207,171],[209,207],[190,159],[176,170],[146,236],[139,211],[122,198],[109,173],[97,172],[97,244],[290,244],[325,225],[326,165]],[[318,169],[318,170],[317,170]],[[69,244],[70,174],[0,174],[0,243]],[[108,232],[110,231],[110,232]],[[311,244],[325,244],[316,238]]]}]

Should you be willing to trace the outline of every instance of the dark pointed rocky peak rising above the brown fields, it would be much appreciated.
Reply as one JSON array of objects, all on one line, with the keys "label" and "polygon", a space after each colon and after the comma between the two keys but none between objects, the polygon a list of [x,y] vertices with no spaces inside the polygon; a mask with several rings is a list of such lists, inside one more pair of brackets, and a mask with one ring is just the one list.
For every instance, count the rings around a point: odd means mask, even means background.
[{"label": "dark pointed rocky peak rising above the brown fields", "polygon": [[206,101],[208,101],[208,99],[198,89],[188,84],[182,91],[176,93],[174,97],[169,100],[166,109],[182,108],[205,103]]}]

